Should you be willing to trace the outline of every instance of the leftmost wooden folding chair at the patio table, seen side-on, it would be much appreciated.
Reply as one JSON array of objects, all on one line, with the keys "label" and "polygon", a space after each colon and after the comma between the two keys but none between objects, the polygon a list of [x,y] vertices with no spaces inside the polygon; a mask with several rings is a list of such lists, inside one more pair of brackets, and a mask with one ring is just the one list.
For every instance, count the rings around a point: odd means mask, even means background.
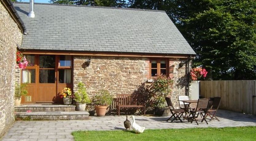
[{"label": "leftmost wooden folding chair at the patio table, seen side-on", "polygon": [[[169,97],[165,97],[165,100],[166,100],[166,102],[167,102],[167,105],[168,105],[168,107],[169,107],[171,113],[172,113],[172,116],[169,117],[169,119],[168,119],[167,121],[169,121],[172,117],[174,117],[171,122],[173,122],[174,120],[180,120],[180,122],[183,122],[183,121],[180,119],[180,117],[183,116],[183,113],[184,113],[185,111],[184,111],[183,109],[175,109],[175,108],[173,107],[173,103],[172,103],[172,101],[171,101],[171,99],[170,99]],[[184,116],[183,116],[183,118],[184,118]]]}]

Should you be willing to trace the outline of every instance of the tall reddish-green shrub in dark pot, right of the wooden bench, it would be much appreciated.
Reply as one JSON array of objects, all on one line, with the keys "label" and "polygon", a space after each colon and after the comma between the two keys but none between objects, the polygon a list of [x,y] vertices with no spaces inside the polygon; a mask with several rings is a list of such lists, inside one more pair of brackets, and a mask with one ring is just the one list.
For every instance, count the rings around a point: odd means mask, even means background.
[{"label": "tall reddish-green shrub in dark pot, right of the wooden bench", "polygon": [[[162,116],[166,109],[165,97],[171,95],[173,85],[172,77],[167,77],[165,75],[158,75],[153,78],[153,83],[151,84],[151,104],[154,107],[154,115]],[[169,112],[169,111],[168,111]],[[167,112],[167,113],[168,113]]]}]

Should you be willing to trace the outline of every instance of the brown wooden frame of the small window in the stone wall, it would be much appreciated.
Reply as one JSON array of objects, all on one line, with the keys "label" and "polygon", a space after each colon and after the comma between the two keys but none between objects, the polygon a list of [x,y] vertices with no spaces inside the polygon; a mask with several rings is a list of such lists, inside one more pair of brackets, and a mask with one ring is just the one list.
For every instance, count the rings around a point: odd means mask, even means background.
[{"label": "brown wooden frame of the small window in the stone wall", "polygon": [[[167,59],[167,58],[150,58],[149,59],[149,78],[150,79],[155,78],[155,77],[157,77],[158,75],[161,74],[161,69],[163,69],[163,68],[161,68],[161,60],[165,60],[166,76],[169,76],[169,59]],[[152,70],[151,62],[152,61],[157,61],[157,76],[151,76],[152,75],[151,74],[151,70]],[[153,69],[155,69],[155,68],[153,68]]]}]

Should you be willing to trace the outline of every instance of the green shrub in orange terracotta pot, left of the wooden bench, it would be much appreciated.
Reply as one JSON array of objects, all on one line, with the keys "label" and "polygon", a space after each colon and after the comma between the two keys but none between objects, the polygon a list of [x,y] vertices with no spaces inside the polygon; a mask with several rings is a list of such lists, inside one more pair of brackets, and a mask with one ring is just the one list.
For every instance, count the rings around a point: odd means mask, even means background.
[{"label": "green shrub in orange terracotta pot, left of the wooden bench", "polygon": [[93,98],[97,116],[105,116],[107,107],[111,105],[113,96],[108,90],[101,90]]}]

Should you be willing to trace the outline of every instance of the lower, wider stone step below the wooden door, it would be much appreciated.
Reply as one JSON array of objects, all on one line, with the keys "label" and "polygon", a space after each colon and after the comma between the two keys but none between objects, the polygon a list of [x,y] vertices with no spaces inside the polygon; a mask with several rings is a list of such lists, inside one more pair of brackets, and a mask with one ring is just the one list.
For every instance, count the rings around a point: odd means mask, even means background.
[{"label": "lower, wider stone step below the wooden door", "polygon": [[88,120],[87,111],[75,112],[15,112],[16,120]]}]

